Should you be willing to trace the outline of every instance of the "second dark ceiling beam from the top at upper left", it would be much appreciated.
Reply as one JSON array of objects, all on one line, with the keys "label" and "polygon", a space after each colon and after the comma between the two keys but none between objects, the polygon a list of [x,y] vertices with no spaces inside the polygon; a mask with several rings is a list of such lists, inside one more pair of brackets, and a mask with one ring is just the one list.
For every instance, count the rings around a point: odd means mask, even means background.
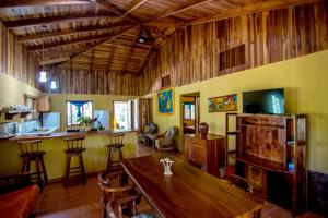
[{"label": "second dark ceiling beam from the top at upper left", "polygon": [[117,15],[113,13],[94,13],[94,14],[71,14],[71,15],[52,16],[52,17],[25,19],[25,20],[4,22],[4,26],[8,29],[12,29],[12,28],[20,28],[20,27],[55,24],[61,22],[72,22],[72,21],[93,20],[93,19],[108,19],[108,17],[117,17]]}]

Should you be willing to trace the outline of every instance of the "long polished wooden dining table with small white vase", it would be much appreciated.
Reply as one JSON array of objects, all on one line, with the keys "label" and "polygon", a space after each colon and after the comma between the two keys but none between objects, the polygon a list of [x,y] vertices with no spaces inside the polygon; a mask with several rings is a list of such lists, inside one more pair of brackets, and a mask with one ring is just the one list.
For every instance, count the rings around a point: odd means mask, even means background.
[{"label": "long polished wooden dining table with small white vase", "polygon": [[[174,161],[164,175],[160,159]],[[168,155],[124,159],[121,166],[162,217],[261,217],[263,201]]]}]

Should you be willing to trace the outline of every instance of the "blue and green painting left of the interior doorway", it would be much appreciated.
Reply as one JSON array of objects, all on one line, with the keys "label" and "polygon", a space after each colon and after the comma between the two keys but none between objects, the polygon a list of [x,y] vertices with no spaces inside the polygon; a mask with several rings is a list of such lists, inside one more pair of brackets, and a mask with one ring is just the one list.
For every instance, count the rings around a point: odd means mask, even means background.
[{"label": "blue and green painting left of the interior doorway", "polygon": [[159,113],[174,113],[174,88],[161,90],[157,93]]}]

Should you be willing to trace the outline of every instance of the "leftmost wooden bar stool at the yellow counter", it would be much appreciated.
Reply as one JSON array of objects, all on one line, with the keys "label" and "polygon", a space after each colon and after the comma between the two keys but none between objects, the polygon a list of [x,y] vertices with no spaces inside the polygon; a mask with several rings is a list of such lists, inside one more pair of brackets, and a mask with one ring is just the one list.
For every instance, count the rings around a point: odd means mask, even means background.
[{"label": "leftmost wooden bar stool at the yellow counter", "polygon": [[40,140],[34,141],[19,141],[21,145],[23,159],[23,167],[21,172],[30,172],[31,162],[35,162],[36,171],[32,172],[32,175],[36,178],[31,178],[31,180],[36,180],[40,190],[43,190],[44,184],[48,184],[48,175],[45,167],[44,155],[45,152],[38,150],[38,145],[42,143]]}]

